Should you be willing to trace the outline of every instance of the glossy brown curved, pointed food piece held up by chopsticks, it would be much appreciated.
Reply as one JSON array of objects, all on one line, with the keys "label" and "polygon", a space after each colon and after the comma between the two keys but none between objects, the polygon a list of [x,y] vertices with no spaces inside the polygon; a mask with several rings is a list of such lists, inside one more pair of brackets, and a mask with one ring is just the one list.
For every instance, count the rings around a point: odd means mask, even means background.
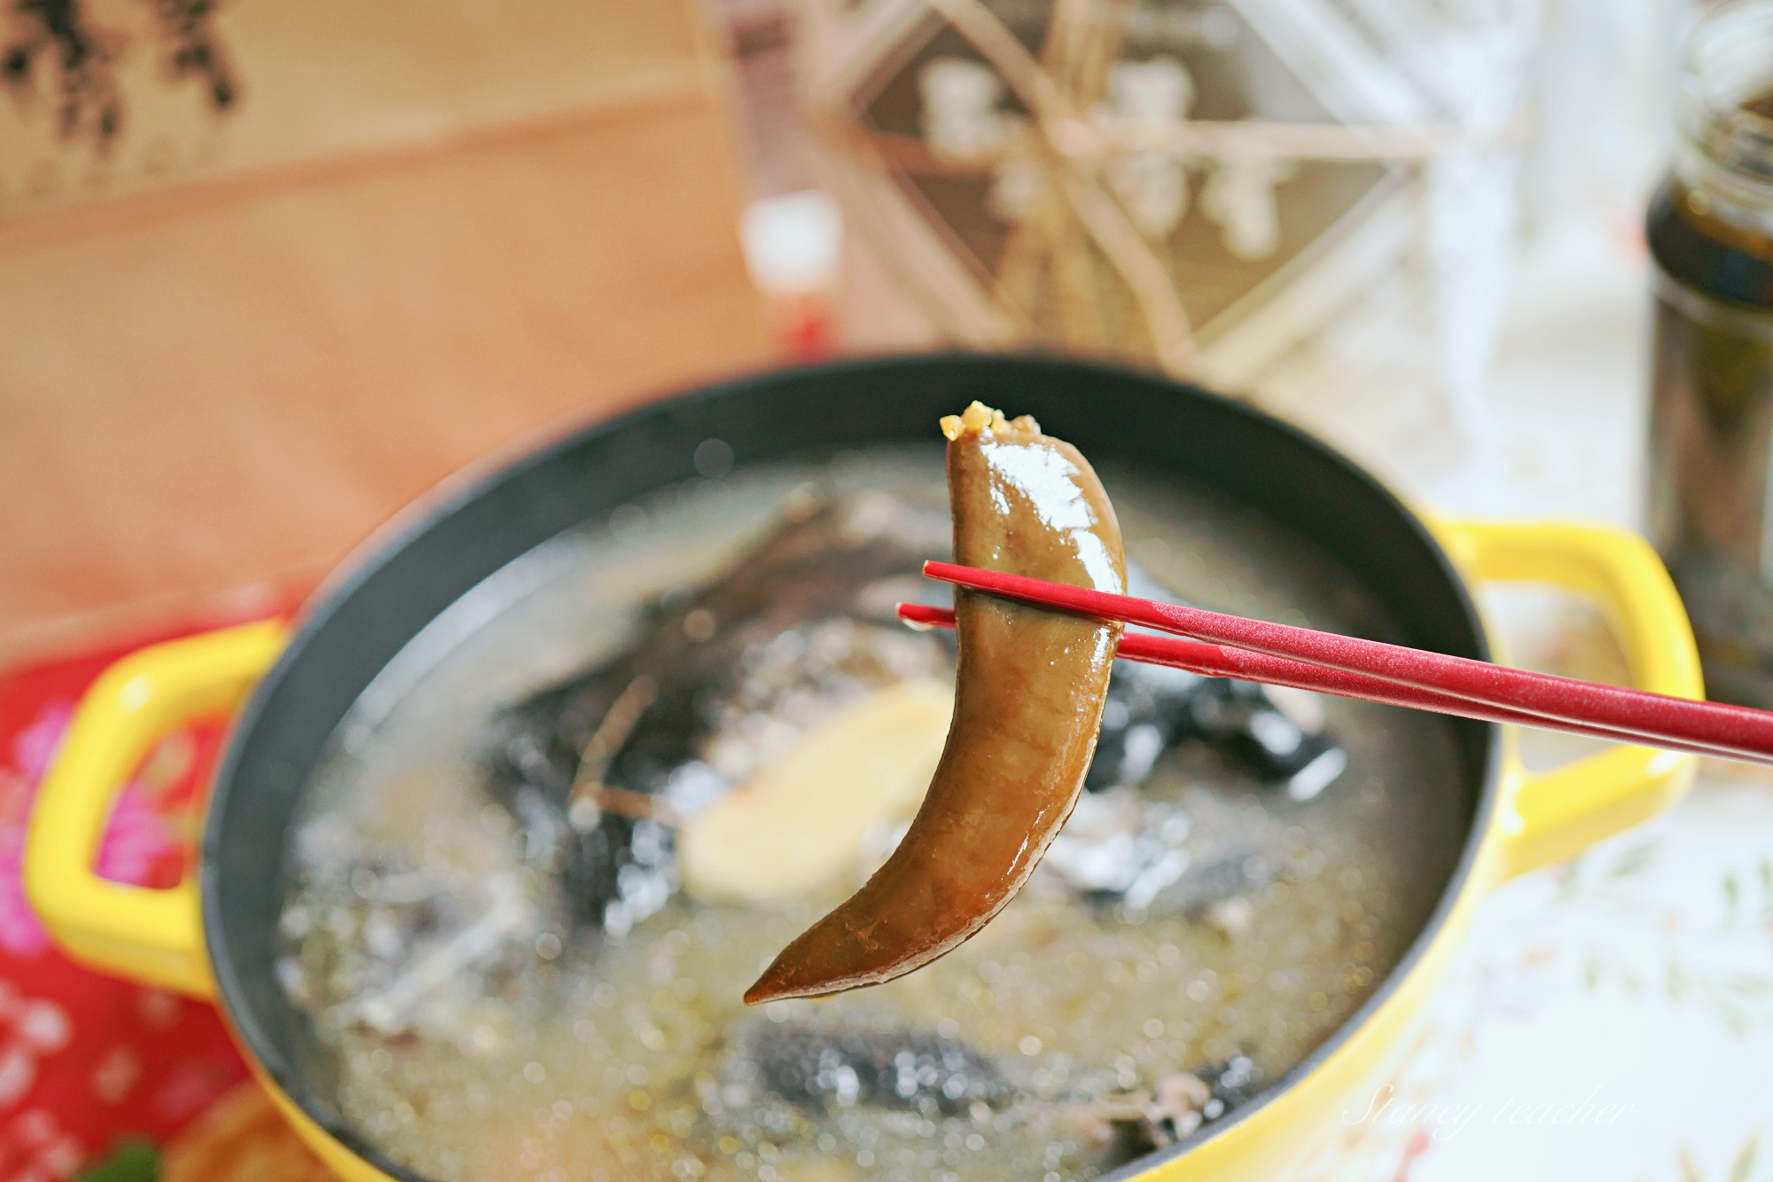
[{"label": "glossy brown curved, pointed food piece held up by chopsticks", "polygon": [[[954,559],[1126,591],[1121,527],[1078,449],[973,403],[949,437]],[[1096,751],[1119,623],[959,591],[941,763],[886,864],[745,992],[755,1005],[879,985],[957,948],[1034,873]]]}]

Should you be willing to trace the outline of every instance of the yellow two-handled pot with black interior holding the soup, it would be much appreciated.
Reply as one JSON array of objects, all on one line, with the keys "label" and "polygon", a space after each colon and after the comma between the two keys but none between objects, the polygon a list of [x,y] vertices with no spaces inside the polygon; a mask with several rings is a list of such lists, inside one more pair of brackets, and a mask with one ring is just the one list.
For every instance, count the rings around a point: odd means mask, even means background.
[{"label": "yellow two-handled pot with black interior holding the soup", "polygon": [[[1076,396],[1083,387],[1089,399]],[[34,907],[71,957],[216,999],[259,1079],[340,1177],[415,1178],[314,1104],[278,1029],[269,944],[282,902],[284,831],[332,726],[401,644],[463,591],[585,516],[690,476],[699,442],[723,438],[748,463],[808,445],[915,438],[933,428],[933,412],[973,394],[1034,410],[1097,461],[1131,453],[1131,461],[1241,490],[1264,513],[1312,531],[1369,586],[1385,591],[1394,580],[1404,611],[1418,603],[1420,628],[1441,626],[1413,642],[1484,655],[1466,584],[1555,584],[1608,616],[1635,685],[1686,697],[1702,692],[1681,602],[1633,534],[1438,522],[1436,547],[1418,518],[1346,460],[1248,408],[1161,378],[1028,359],[851,362],[764,374],[592,426],[477,486],[452,486],[374,540],[316,596],[293,634],[248,625],[124,658],[82,701],[37,797],[25,854]],[[844,414],[807,414],[833,401]],[[1136,421],[1140,429],[1101,426],[1117,421]],[[1239,486],[1252,458],[1271,470],[1262,483]],[[1291,500],[1287,486],[1296,486]],[[1472,632],[1464,641],[1461,619]],[[98,879],[92,864],[112,802],[152,742],[188,717],[248,696],[216,774],[197,875],[170,891]],[[1470,834],[1410,953],[1298,1068],[1232,1116],[1142,1161],[1138,1177],[1289,1177],[1337,1129],[1351,1097],[1395,1063],[1401,1035],[1484,894],[1649,818],[1684,792],[1693,772],[1690,756],[1619,745],[1528,774],[1507,728],[1459,726],[1468,728],[1473,761]]]}]

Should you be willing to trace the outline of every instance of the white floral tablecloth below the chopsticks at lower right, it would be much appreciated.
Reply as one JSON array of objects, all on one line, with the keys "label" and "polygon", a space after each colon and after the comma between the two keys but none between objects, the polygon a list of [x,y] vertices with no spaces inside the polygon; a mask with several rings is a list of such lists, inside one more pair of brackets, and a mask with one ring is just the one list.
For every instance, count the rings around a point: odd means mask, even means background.
[{"label": "white floral tablecloth below the chopsticks at lower right", "polygon": [[1505,884],[1415,1038],[1314,1178],[1773,1178],[1773,777]]}]

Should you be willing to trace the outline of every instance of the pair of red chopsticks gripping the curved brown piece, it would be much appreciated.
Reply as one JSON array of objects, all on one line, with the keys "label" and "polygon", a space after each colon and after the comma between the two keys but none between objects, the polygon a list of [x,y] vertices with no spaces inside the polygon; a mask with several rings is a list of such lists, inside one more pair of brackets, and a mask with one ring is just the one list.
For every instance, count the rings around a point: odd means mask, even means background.
[{"label": "pair of red chopsticks gripping the curved brown piece", "polygon": [[[1773,712],[1766,710],[1560,678],[954,563],[924,563],[924,575],[1170,634],[1122,634],[1117,655],[1124,660],[1773,765]],[[954,612],[918,603],[901,603],[899,618],[920,626],[954,626]]]}]

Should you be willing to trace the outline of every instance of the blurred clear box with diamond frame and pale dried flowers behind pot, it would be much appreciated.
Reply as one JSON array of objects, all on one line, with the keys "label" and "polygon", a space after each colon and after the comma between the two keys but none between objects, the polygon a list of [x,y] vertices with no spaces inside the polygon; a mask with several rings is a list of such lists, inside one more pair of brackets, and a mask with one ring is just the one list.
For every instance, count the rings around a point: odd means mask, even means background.
[{"label": "blurred clear box with diamond frame and pale dried flowers behind pot", "polygon": [[1477,433],[1537,4],[801,11],[823,176],[949,337],[1271,398],[1411,374]]}]

